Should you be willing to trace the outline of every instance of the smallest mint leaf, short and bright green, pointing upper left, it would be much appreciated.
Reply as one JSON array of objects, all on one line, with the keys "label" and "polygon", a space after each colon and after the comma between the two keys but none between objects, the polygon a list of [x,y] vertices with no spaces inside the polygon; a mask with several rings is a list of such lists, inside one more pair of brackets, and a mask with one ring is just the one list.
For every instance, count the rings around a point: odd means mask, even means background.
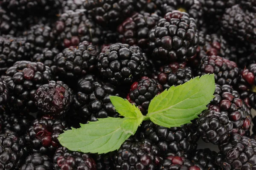
[{"label": "smallest mint leaf, short and bright green, pointing upper left", "polygon": [[138,117],[143,116],[140,109],[135,105],[132,105],[128,100],[123,99],[118,96],[110,96],[110,100],[115,107],[116,111],[124,117],[137,119]]}]

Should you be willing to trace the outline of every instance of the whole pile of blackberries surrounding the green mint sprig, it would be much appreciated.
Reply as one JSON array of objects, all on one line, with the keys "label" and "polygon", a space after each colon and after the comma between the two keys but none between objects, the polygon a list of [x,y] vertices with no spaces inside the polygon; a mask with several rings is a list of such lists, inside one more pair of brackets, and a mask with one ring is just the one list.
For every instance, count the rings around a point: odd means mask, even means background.
[{"label": "whole pile of blackberries surrounding the green mint sprig", "polygon": [[[172,86],[214,74],[190,124],[144,121],[119,150],[58,137],[148,113]],[[0,0],[0,170],[256,170],[256,0]]]}]

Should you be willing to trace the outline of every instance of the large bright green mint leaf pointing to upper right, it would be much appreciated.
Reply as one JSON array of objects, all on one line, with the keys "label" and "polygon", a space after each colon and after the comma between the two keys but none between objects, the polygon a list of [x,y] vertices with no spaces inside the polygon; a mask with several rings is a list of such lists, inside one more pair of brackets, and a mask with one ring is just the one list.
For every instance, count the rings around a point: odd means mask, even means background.
[{"label": "large bright green mint leaf pointing to upper right", "polygon": [[164,127],[180,127],[198,118],[214,98],[214,74],[195,77],[179,86],[172,86],[151,100],[148,116],[152,122]]}]

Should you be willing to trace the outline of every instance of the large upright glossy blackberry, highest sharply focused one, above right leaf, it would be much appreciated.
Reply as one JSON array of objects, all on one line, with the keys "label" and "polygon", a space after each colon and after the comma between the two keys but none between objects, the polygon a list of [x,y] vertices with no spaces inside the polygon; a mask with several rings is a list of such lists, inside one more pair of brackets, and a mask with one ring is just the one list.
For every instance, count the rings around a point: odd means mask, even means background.
[{"label": "large upright glossy blackberry, highest sharply focused one, above right leaf", "polygon": [[172,11],[160,19],[149,33],[148,48],[159,63],[185,61],[196,54],[198,30],[189,14]]}]

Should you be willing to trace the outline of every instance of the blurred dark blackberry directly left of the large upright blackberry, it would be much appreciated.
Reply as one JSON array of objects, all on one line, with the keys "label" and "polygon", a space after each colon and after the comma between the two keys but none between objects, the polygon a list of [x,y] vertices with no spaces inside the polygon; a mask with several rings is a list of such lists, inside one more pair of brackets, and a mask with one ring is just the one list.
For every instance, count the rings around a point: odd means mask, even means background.
[{"label": "blurred dark blackberry directly left of the large upright blackberry", "polygon": [[148,32],[160,18],[154,13],[133,14],[118,26],[119,40],[125,44],[138,45],[144,52],[148,51]]}]

